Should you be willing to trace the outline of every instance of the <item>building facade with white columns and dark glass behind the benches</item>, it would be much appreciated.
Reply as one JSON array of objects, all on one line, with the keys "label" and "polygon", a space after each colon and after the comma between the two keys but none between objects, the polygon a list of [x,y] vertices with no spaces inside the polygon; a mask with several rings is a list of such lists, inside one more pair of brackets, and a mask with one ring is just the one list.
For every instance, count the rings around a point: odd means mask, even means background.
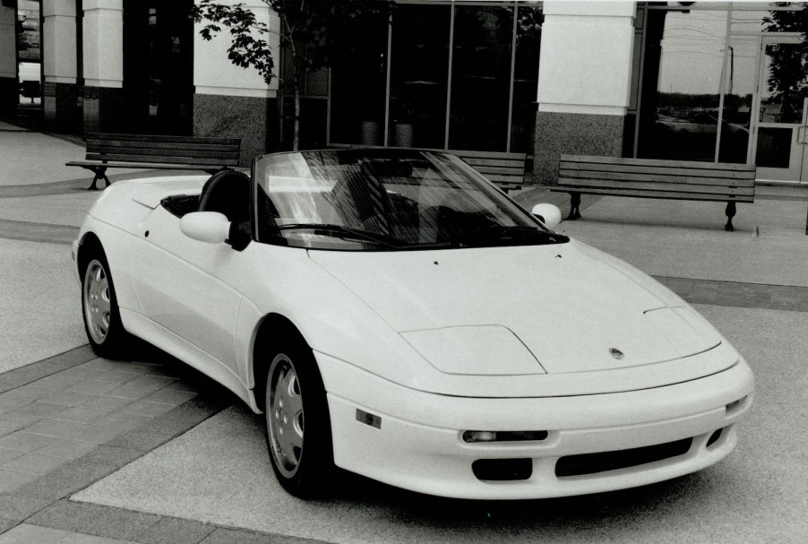
[{"label": "building facade with white columns and dark glass behind the benches", "polygon": [[[287,147],[279,39],[268,86],[229,62],[226,35],[200,37],[192,3],[3,0],[0,116],[24,106],[57,132],[238,136],[245,157]],[[260,0],[241,3],[279,30]],[[548,185],[562,153],[808,181],[805,4],[399,0],[352,24],[331,69],[305,78],[301,147],[526,153]]]}]

